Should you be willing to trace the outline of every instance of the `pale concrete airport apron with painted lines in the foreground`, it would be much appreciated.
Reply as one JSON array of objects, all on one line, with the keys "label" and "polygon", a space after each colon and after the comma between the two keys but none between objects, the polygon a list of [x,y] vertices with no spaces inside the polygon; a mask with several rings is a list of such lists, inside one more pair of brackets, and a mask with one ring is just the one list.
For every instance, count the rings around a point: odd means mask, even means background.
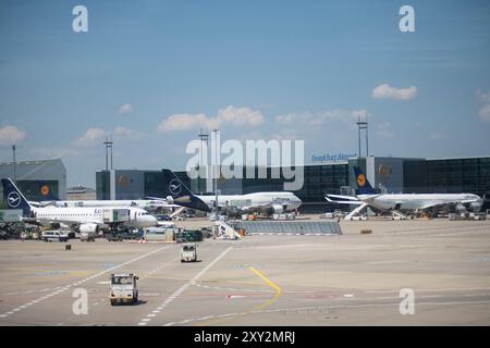
[{"label": "pale concrete airport apron with painted lines in the foreground", "polygon": [[[177,244],[0,241],[0,325],[490,324],[490,221],[341,227],[208,238],[191,263]],[[109,276],[125,272],[140,277],[139,302],[112,307]]]}]

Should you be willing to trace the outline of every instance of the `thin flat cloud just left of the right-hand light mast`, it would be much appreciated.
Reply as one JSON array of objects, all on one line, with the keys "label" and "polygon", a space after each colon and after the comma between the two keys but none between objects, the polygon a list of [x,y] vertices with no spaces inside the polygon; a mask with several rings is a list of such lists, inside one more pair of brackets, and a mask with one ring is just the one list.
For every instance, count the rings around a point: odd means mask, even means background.
[{"label": "thin flat cloud just left of the right-hand light mast", "polygon": [[310,112],[304,113],[287,113],[284,115],[279,115],[275,117],[275,122],[285,125],[301,125],[301,126],[320,126],[323,124],[329,124],[332,122],[345,122],[348,124],[354,124],[357,121],[358,115],[364,120],[367,115],[366,110],[331,110],[324,111],[317,114]]}]

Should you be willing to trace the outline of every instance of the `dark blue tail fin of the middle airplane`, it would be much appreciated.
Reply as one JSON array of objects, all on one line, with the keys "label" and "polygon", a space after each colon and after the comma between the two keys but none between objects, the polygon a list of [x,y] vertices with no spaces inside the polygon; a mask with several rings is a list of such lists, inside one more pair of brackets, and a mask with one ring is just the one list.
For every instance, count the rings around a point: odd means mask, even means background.
[{"label": "dark blue tail fin of the middle airplane", "polygon": [[210,209],[201,199],[194,194],[181,182],[181,179],[171,170],[162,170],[163,181],[166,183],[164,196],[169,202],[175,204],[197,209],[209,212]]}]

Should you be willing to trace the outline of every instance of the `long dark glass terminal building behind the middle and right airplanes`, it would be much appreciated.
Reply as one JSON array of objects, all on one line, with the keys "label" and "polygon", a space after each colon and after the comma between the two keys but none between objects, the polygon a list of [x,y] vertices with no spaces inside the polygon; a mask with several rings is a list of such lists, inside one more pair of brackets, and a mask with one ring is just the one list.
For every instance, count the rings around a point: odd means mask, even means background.
[{"label": "long dark glass terminal building behind the middle and right airplanes", "polygon": [[[304,166],[303,188],[294,194],[303,200],[301,211],[324,212],[333,210],[324,195],[354,195],[356,183],[354,166],[366,173],[375,189],[389,194],[452,194],[468,192],[485,198],[483,209],[490,209],[490,156],[470,158],[424,159],[368,157],[350,158],[346,161],[309,164]],[[285,179],[267,178],[218,179],[218,190],[223,195],[241,195],[256,191],[281,191]],[[281,172],[282,173],[282,172]],[[211,192],[210,181],[191,179],[185,171],[175,172],[181,181],[196,194]],[[138,199],[163,197],[167,183],[158,170],[112,170],[96,173],[97,199]]]}]

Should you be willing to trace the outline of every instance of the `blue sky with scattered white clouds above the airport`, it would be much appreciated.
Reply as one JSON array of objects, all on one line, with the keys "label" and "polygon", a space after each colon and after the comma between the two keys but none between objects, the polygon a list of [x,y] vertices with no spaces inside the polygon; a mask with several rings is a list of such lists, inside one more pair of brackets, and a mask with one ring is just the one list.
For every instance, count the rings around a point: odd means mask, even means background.
[{"label": "blue sky with scattered white clouds above the airport", "polygon": [[310,163],[357,153],[359,114],[370,154],[489,156],[490,2],[1,1],[0,98],[0,162],[61,158],[69,186],[109,135],[117,169],[184,170],[215,127]]}]

